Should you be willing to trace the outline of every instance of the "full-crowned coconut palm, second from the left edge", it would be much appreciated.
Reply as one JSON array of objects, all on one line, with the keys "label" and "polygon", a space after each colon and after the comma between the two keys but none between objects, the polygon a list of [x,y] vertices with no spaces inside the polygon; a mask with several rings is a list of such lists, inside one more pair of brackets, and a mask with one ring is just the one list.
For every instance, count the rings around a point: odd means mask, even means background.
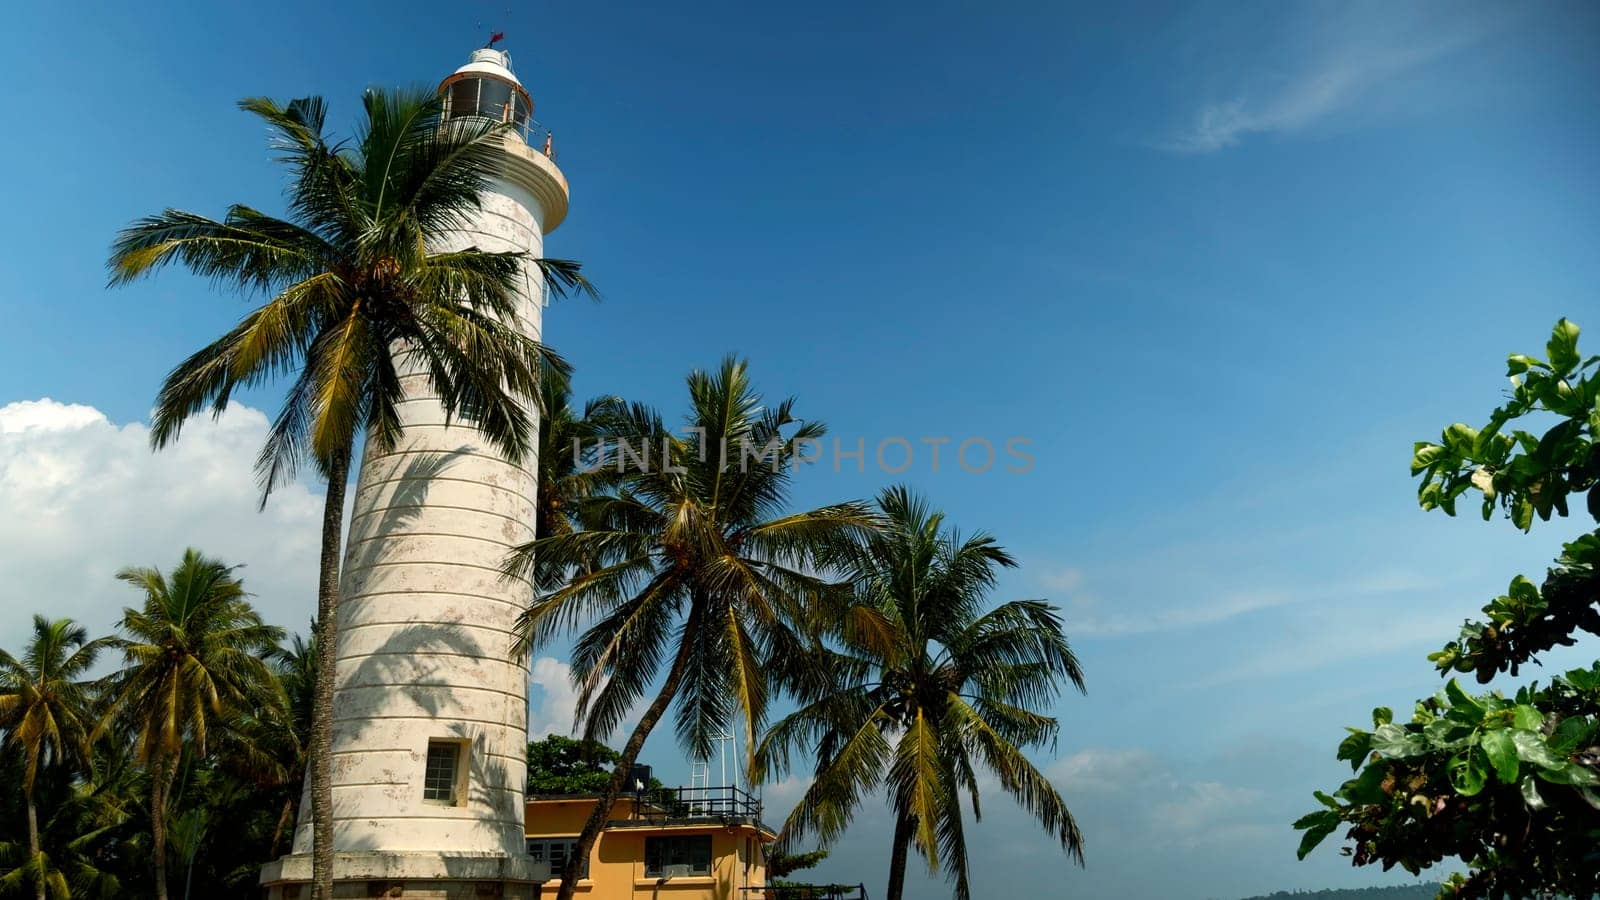
[{"label": "full-crowned coconut palm, second from the left edge", "polygon": [[157,900],[166,900],[166,807],[179,756],[203,757],[230,722],[283,705],[264,661],[283,629],[261,621],[235,570],[190,548],[171,575],[117,573],[144,593],[144,605],[123,609],[125,636],[114,639],[123,668],[106,687],[107,717],[120,719],[149,773]]}]

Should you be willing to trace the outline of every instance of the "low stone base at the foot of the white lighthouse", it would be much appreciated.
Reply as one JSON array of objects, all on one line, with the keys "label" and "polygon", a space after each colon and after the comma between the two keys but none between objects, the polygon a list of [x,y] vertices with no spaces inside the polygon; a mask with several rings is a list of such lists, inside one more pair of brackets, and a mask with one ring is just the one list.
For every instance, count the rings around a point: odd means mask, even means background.
[{"label": "low stone base at the foot of the white lighthouse", "polygon": [[[534,900],[549,863],[499,854],[373,852],[333,855],[336,898]],[[283,857],[261,870],[267,900],[310,900],[310,855]]]}]

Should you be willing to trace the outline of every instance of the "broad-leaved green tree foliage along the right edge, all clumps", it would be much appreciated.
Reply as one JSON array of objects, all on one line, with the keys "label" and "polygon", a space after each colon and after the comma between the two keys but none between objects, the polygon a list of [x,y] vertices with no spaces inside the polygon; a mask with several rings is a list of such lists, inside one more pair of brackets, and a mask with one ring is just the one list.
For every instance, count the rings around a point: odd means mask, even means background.
[{"label": "broad-leaved green tree foliage along the right edge, all clumps", "polygon": [[[1456,423],[1440,442],[1413,447],[1424,509],[1456,514],[1472,490],[1491,519],[1501,508],[1528,532],[1534,517],[1568,516],[1573,495],[1600,522],[1600,357],[1582,359],[1578,325],[1562,319],[1546,359],[1514,354],[1512,391],[1488,424]],[[1536,420],[1554,420],[1542,434]],[[1528,428],[1517,428],[1518,424]],[[1440,673],[1478,682],[1518,666],[1581,631],[1600,634],[1600,532],[1581,535],[1542,585],[1518,575],[1466,621],[1456,641],[1429,655]],[[1419,873],[1446,858],[1469,865],[1440,897],[1600,895],[1600,663],[1573,669],[1515,698],[1470,695],[1456,679],[1397,724],[1373,713],[1373,729],[1349,729],[1338,757],[1355,777],[1302,817],[1304,858],[1346,830],[1355,865]]]}]

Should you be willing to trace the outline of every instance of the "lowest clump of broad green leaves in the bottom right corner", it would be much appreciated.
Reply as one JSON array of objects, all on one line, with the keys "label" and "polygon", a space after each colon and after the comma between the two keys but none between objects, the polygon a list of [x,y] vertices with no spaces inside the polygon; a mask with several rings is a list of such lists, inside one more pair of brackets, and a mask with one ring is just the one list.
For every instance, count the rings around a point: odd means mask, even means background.
[{"label": "lowest clump of broad green leaves in the bottom right corner", "polygon": [[[1349,826],[1354,846],[1346,852],[1357,865],[1398,865],[1416,874],[1459,857],[1486,870],[1496,868],[1496,855],[1539,842],[1541,855],[1592,878],[1594,865],[1582,863],[1600,846],[1595,708],[1600,663],[1547,689],[1523,687],[1512,700],[1498,692],[1469,695],[1451,679],[1418,703],[1406,724],[1394,722],[1387,708],[1374,709],[1373,729],[1349,729],[1338,751],[1358,775],[1331,796],[1317,791],[1323,809],[1294,823],[1304,831],[1299,857]],[[1589,884],[1574,878],[1568,887]],[[1514,890],[1523,889],[1531,886]],[[1459,890],[1443,895],[1490,895]]]}]

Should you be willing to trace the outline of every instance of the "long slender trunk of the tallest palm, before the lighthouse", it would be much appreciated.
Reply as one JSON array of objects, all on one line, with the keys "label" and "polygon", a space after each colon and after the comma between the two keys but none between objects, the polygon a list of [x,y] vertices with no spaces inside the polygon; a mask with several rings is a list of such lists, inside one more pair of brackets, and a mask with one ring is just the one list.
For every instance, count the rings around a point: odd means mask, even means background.
[{"label": "long slender trunk of the tallest palm, before the lighthouse", "polygon": [[310,703],[310,876],[312,900],[333,900],[333,679],[339,655],[339,538],[344,532],[344,488],[350,450],[328,466],[322,503],[322,562],[317,573],[317,684]]}]

